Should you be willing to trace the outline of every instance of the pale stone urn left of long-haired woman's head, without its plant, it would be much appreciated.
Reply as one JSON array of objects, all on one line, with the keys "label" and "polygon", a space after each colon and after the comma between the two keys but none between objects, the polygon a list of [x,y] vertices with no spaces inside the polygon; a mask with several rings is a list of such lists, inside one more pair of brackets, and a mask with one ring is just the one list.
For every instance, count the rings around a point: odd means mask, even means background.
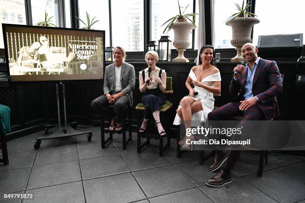
[{"label": "pale stone urn left of long-haired woman's head, without its plant", "polygon": [[195,28],[196,26],[191,22],[172,23],[171,29],[174,30],[174,41],[172,44],[178,50],[178,56],[172,60],[173,62],[189,62],[189,60],[184,57],[183,53],[190,45],[189,36],[191,30]]}]

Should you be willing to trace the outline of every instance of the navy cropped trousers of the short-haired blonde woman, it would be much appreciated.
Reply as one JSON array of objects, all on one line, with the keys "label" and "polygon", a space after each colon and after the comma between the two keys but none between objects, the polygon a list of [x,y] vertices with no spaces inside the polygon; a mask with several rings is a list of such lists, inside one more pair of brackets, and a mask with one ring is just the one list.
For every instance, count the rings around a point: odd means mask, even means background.
[{"label": "navy cropped trousers of the short-haired blonde woman", "polygon": [[150,112],[159,110],[159,105],[163,105],[165,103],[165,98],[155,95],[143,95],[142,103],[145,104],[144,118],[150,118]]}]

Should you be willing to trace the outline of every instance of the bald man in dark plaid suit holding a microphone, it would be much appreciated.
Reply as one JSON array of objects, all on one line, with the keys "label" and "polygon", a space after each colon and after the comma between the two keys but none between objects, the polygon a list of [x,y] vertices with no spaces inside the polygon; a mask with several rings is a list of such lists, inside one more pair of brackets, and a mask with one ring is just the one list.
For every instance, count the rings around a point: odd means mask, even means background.
[{"label": "bald man in dark plaid suit holding a microphone", "polygon": [[[282,78],[275,61],[264,60],[257,56],[258,49],[252,43],[242,47],[246,66],[234,67],[234,75],[229,92],[236,96],[233,102],[227,103],[208,114],[208,120],[225,120],[236,115],[243,115],[244,120],[271,120],[280,115],[276,96],[283,91]],[[221,187],[232,182],[233,169],[240,151],[216,151],[210,171],[224,169],[208,179],[206,184]]]}]

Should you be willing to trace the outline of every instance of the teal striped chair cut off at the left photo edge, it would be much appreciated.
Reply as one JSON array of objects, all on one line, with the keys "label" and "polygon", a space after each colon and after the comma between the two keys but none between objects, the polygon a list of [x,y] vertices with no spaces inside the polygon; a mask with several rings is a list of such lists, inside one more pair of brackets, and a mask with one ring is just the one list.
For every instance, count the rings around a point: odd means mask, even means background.
[{"label": "teal striped chair cut off at the left photo edge", "polygon": [[2,149],[3,156],[3,158],[0,159],[0,163],[3,163],[4,165],[8,164],[5,134],[10,132],[10,111],[8,106],[0,104],[0,149]]}]

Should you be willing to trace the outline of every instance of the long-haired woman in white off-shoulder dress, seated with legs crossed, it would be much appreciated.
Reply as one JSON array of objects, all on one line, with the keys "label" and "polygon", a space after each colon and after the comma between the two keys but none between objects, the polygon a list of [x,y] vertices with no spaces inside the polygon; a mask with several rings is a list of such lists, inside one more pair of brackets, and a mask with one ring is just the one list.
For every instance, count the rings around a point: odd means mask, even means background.
[{"label": "long-haired woman in white off-shoulder dress, seated with legs crossed", "polygon": [[[213,94],[220,94],[220,73],[213,61],[214,47],[204,45],[200,49],[199,65],[194,66],[185,82],[189,95],[184,97],[177,108],[174,125],[182,122],[185,128],[191,127],[191,120],[205,122],[207,115],[214,108]],[[191,87],[194,85],[194,89]],[[188,147],[186,139],[194,140],[194,136],[184,136],[179,141],[183,147]]]}]

